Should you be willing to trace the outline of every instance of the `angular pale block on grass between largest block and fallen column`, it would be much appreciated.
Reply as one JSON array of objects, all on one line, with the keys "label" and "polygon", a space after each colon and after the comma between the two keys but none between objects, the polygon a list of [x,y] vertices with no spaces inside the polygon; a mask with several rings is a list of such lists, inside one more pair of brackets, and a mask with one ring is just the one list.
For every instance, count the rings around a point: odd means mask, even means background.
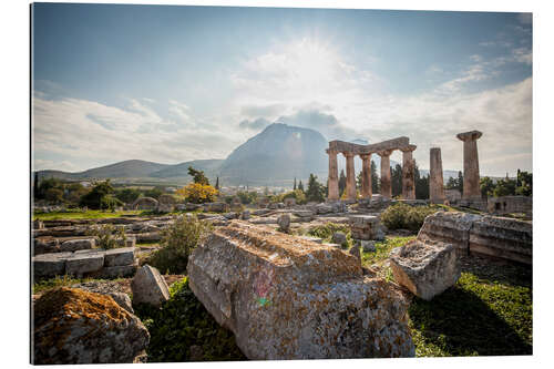
[{"label": "angular pale block on grass between largest block and fallen column", "polygon": [[398,284],[424,300],[453,286],[461,273],[452,244],[417,239],[391,252],[390,267]]}]

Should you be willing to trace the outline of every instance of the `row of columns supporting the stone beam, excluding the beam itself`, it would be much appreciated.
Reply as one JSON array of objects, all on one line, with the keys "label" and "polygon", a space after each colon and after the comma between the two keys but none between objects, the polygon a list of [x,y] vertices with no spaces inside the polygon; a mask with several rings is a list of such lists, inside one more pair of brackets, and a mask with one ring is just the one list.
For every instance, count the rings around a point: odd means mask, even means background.
[{"label": "row of columns supporting the stone beam, excluding the beam itself", "polygon": [[[402,197],[406,199],[416,199],[416,185],[414,185],[414,167],[416,162],[412,156],[412,152],[417,148],[416,145],[408,145],[400,147],[402,151]],[[339,176],[338,176],[338,165],[337,155],[338,151],[328,148],[327,154],[329,155],[329,201],[339,199]],[[391,177],[390,177],[390,155],[393,150],[383,150],[377,152],[381,156],[381,195],[387,198],[391,198]],[[347,168],[347,183],[345,192],[347,194],[347,199],[355,201],[357,197],[356,193],[356,171],[353,165],[353,157],[356,156],[352,152],[341,152],[346,157],[346,168]],[[371,198],[371,154],[363,153],[359,154],[361,157],[361,196],[362,198]]]}]

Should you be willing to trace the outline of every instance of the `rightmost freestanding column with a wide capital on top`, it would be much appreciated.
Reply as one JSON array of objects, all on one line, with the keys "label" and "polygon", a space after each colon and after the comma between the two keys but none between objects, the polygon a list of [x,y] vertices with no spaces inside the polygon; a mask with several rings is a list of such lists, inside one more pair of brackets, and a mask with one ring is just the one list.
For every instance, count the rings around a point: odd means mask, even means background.
[{"label": "rightmost freestanding column with a wide capital on top", "polygon": [[481,199],[479,186],[478,139],[483,133],[470,131],[459,133],[456,137],[463,141],[463,195],[464,199]]}]

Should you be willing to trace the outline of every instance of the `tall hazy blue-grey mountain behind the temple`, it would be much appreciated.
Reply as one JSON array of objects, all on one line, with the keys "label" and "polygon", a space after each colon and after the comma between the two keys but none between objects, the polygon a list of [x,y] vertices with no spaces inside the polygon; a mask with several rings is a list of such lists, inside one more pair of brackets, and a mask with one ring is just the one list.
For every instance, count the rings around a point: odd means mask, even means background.
[{"label": "tall hazy blue-grey mountain behind the temple", "polygon": [[315,130],[274,123],[230,153],[220,177],[228,184],[283,185],[314,173],[325,181],[328,145]]}]

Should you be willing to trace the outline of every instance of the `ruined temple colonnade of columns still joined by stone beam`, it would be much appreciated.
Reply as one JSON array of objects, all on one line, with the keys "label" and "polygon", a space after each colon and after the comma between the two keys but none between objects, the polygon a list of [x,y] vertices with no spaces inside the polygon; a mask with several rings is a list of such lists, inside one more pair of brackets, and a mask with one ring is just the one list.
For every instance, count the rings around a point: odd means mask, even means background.
[{"label": "ruined temple colonnade of columns still joined by stone beam", "polygon": [[390,183],[390,155],[394,150],[402,151],[402,197],[406,199],[416,198],[414,186],[414,164],[412,152],[416,145],[410,144],[408,137],[398,137],[388,140],[370,145],[359,145],[345,141],[329,142],[329,148],[326,150],[329,155],[329,196],[328,201],[339,199],[339,176],[337,155],[341,153],[346,158],[347,168],[347,185],[346,194],[348,201],[356,201],[356,170],[353,165],[353,157],[359,155],[362,161],[361,174],[361,196],[363,198],[371,198],[371,154],[381,156],[381,195],[383,197],[391,197],[391,183]]}]

